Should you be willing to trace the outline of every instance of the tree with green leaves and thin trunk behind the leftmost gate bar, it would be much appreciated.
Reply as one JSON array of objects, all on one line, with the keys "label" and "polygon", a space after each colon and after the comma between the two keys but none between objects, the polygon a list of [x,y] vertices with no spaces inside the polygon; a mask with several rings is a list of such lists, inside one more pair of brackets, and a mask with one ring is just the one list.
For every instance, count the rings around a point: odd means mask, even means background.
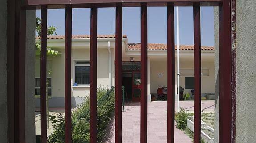
[{"label": "tree with green leaves and thin trunk behind the leftmost gate bar", "polygon": [[[57,27],[53,26],[53,25],[47,27],[47,36],[53,35],[53,34],[57,35],[56,29],[57,29]],[[36,31],[37,31],[38,36],[40,36],[41,35],[41,19],[39,17],[36,17]],[[40,45],[40,42],[37,43],[37,45]],[[47,71],[48,74],[51,74],[51,72],[52,71]],[[47,83],[46,83],[46,111],[47,111],[46,116],[47,116],[47,127],[49,128],[48,85],[49,85],[49,83],[47,80]]]}]

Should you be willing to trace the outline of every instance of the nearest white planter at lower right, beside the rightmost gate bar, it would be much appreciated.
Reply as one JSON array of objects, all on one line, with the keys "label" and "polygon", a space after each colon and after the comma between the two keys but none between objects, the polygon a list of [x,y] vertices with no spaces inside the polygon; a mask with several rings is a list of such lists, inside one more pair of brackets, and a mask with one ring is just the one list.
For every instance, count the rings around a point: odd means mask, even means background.
[{"label": "nearest white planter at lower right, beside the rightmost gate bar", "polygon": [[201,130],[201,138],[204,139],[205,143],[214,143],[214,129],[209,126],[203,127]]}]

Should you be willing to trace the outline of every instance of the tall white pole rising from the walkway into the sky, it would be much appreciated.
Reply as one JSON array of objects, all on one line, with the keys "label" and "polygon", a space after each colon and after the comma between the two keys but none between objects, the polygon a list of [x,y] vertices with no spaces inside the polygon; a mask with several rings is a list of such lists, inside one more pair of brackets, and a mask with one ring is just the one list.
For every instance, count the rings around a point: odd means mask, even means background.
[{"label": "tall white pole rising from the walkway into the sky", "polygon": [[179,7],[176,7],[177,15],[177,112],[179,112]]}]

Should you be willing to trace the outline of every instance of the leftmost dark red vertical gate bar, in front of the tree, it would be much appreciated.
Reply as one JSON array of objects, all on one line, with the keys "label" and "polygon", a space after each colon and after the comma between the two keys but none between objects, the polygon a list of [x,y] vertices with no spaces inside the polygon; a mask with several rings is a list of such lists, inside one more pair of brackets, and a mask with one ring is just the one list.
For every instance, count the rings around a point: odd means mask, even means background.
[{"label": "leftmost dark red vertical gate bar, in front of the tree", "polygon": [[41,143],[47,142],[47,117],[46,117],[46,61],[47,61],[47,6],[41,7],[41,50],[40,50],[40,130]]}]

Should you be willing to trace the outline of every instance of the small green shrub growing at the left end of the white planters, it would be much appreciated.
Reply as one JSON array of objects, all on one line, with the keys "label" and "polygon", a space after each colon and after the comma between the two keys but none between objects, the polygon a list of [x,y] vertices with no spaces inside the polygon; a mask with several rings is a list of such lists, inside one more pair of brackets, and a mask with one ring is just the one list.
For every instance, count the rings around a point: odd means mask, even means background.
[{"label": "small green shrub growing at the left end of the white planters", "polygon": [[180,130],[185,130],[187,127],[187,111],[185,111],[182,107],[179,112],[175,114],[176,128]]}]

